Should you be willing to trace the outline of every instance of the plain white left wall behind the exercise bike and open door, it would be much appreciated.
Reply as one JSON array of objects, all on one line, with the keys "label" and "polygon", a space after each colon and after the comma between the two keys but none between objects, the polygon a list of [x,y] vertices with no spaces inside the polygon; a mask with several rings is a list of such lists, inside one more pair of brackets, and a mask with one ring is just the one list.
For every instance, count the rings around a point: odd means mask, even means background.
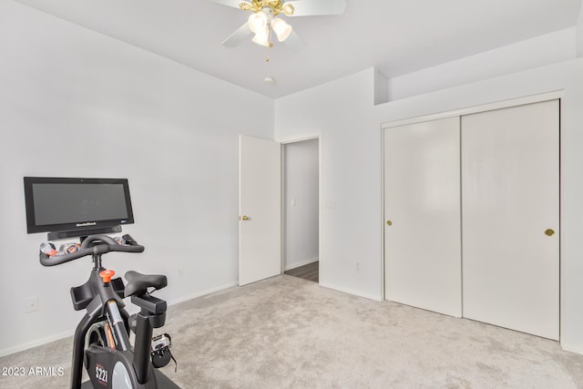
[{"label": "plain white left wall behind the exercise bike and open door", "polygon": [[69,288],[90,270],[40,265],[26,175],[128,178],[124,230],[146,251],[105,264],[167,273],[169,302],[237,282],[238,136],[272,138],[271,99],[14,2],[0,2],[0,56],[0,354],[72,333]]}]

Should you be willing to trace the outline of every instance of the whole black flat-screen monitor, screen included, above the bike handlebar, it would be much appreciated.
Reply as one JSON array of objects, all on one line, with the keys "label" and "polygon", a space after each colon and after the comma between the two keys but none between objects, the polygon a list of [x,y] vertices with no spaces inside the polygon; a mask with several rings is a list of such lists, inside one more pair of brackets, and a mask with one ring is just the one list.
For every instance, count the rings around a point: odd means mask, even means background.
[{"label": "whole black flat-screen monitor, screen included, above the bike handlebar", "polygon": [[80,236],[134,222],[128,179],[25,177],[25,201],[28,233]]}]

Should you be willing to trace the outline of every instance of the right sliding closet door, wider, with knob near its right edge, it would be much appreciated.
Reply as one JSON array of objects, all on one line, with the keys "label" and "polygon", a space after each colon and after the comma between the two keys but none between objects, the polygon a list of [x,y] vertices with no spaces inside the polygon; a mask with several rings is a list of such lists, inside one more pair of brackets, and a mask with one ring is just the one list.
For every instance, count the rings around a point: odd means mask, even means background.
[{"label": "right sliding closet door, wider, with knob near its right edge", "polygon": [[464,316],[559,335],[558,100],[462,118]]}]

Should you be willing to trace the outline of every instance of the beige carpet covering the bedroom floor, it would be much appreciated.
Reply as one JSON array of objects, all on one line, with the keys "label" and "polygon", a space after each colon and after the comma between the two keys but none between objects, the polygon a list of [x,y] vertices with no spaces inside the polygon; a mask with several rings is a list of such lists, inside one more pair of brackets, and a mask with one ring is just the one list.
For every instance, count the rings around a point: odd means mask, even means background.
[{"label": "beige carpet covering the bedroom floor", "polygon": [[[165,331],[184,388],[583,388],[583,356],[556,342],[285,275],[172,306]],[[0,358],[65,370],[0,387],[67,387],[70,345]]]}]

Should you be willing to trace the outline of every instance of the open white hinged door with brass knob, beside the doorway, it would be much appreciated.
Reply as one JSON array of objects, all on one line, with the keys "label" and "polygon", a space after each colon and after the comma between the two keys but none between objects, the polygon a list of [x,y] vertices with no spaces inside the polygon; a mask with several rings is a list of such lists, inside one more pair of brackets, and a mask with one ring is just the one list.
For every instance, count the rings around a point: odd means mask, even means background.
[{"label": "open white hinged door with brass knob, beside the doorway", "polygon": [[239,138],[239,284],[281,273],[281,145]]}]

